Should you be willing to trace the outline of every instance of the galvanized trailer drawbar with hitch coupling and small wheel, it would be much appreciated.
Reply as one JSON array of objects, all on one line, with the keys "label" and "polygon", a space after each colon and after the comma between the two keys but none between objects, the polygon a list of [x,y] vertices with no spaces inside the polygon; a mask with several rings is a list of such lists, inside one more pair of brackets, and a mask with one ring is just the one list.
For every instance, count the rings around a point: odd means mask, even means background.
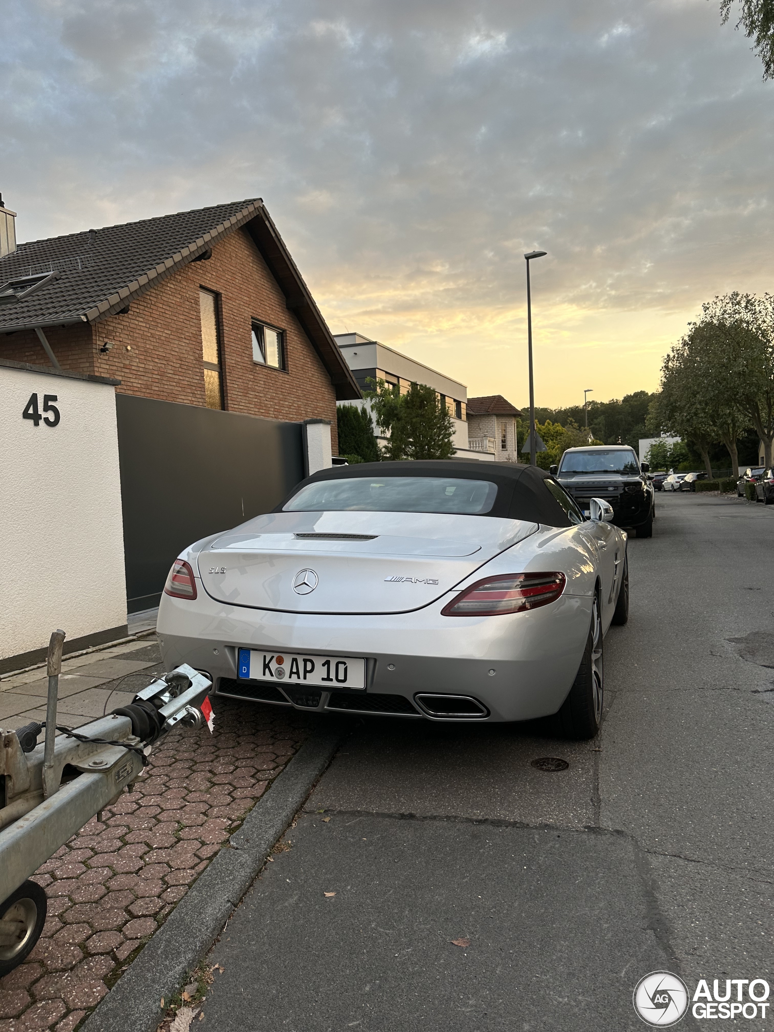
[{"label": "galvanized trailer drawbar with hitch coupling and small wheel", "polygon": [[77,731],[57,724],[64,638],[55,631],[49,644],[44,724],[0,729],[0,976],[24,961],[43,929],[46,897],[30,875],[132,789],[154,743],[170,729],[207,722],[212,730],[212,681],[187,664]]}]

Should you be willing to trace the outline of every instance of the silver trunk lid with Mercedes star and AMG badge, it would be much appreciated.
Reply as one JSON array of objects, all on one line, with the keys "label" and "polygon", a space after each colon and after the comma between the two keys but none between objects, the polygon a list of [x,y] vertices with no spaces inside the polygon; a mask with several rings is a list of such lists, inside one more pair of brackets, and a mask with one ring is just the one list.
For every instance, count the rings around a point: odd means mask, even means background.
[{"label": "silver trunk lid with Mercedes star and AMG badge", "polygon": [[207,594],[233,606],[406,612],[537,529],[522,520],[438,513],[269,513],[212,541],[198,555],[198,572]]}]

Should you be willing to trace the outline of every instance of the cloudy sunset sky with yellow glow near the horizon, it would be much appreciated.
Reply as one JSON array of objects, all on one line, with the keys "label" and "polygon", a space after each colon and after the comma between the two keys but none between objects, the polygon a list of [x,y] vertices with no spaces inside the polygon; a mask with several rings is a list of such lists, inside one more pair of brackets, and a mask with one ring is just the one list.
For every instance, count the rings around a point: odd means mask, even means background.
[{"label": "cloudy sunset sky with yellow glow near the horizon", "polygon": [[333,332],[523,404],[771,287],[774,83],[718,0],[10,0],[20,239],[263,197]]}]

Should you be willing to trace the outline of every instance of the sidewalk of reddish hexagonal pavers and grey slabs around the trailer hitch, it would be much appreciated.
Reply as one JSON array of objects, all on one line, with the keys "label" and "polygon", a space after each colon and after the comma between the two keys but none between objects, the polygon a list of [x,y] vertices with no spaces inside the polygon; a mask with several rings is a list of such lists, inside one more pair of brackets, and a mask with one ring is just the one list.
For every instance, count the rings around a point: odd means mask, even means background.
[{"label": "sidewalk of reddish hexagonal pavers and grey slabs around the trailer hitch", "polygon": [[[129,702],[160,673],[154,638],[63,664],[60,722]],[[0,724],[45,715],[45,671],[0,681]],[[118,688],[119,690],[115,690]],[[108,692],[112,691],[109,701]],[[312,727],[295,710],[220,700],[215,734],[171,732],[134,791],[34,875],[49,914],[27,961],[0,978],[0,1032],[73,1032],[284,769]]]}]

